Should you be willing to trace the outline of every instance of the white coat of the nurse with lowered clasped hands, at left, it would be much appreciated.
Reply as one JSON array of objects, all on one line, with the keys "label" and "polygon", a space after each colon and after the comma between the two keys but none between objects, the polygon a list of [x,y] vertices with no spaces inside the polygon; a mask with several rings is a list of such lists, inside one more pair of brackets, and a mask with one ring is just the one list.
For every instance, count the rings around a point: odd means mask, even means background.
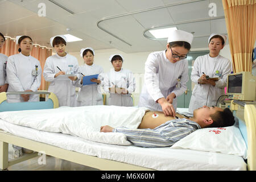
[{"label": "white coat of the nurse with lowered clasped hands, at left", "polygon": [[[38,74],[32,75],[38,66]],[[10,56],[7,60],[6,75],[9,83],[7,92],[24,92],[25,90],[38,91],[41,85],[42,68],[39,60],[22,53]],[[28,102],[39,101],[39,94],[31,94]],[[7,95],[7,102],[24,102],[19,94]]]}]

